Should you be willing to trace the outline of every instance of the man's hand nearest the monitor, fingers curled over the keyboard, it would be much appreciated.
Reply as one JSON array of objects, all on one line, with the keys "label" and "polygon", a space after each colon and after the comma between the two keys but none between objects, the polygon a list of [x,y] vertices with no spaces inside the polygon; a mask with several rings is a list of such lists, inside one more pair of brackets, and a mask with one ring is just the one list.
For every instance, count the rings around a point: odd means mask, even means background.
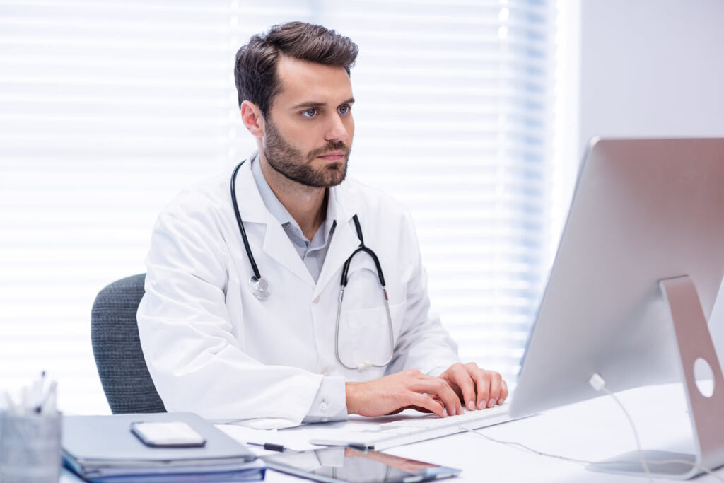
[{"label": "man's hand nearest the monitor, fingers curled over the keyboard", "polygon": [[452,364],[440,379],[447,382],[468,410],[492,408],[508,398],[508,385],[495,371],[480,369],[474,362]]}]

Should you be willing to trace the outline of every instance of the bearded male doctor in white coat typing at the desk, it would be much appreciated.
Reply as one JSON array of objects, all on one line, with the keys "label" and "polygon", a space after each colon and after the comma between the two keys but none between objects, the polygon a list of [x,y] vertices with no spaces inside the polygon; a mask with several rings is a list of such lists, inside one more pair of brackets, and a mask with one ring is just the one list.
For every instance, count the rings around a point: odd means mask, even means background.
[{"label": "bearded male doctor in white coat typing at the desk", "polygon": [[146,259],[138,329],[168,411],[289,427],[405,408],[445,417],[508,397],[500,374],[460,363],[429,313],[409,212],[345,180],[357,51],[302,22],[238,51],[241,117],[258,146],[233,181],[240,221],[229,172],[164,209]]}]

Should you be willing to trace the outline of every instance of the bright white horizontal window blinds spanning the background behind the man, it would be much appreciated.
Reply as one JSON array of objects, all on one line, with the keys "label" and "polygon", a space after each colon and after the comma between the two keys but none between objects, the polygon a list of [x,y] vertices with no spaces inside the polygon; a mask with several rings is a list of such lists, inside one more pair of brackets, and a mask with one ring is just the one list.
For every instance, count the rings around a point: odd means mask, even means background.
[{"label": "bright white horizontal window blinds spanning the background behind the man", "polygon": [[0,389],[108,412],[90,307],[183,186],[253,149],[235,51],[287,20],[360,46],[350,175],[411,206],[460,354],[515,374],[548,226],[549,1],[0,1]]}]

